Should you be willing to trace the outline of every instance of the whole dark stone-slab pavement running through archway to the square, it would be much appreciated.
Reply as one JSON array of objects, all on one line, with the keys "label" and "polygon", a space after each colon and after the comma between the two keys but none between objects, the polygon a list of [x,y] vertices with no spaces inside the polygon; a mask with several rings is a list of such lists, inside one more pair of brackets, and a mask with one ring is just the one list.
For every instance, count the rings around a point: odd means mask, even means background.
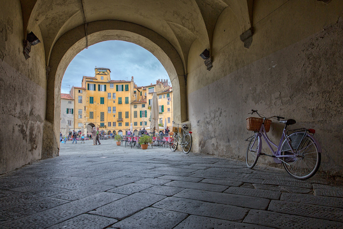
[{"label": "whole dark stone-slab pavement running through archway to the square", "polygon": [[0,176],[1,229],[343,228],[343,186],[113,140]]}]

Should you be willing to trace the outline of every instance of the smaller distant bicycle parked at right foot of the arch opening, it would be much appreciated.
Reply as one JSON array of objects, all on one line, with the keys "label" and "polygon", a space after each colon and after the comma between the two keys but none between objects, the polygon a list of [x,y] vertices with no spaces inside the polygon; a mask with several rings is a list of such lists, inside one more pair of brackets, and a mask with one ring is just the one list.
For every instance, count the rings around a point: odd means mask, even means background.
[{"label": "smaller distant bicycle parked at right foot of the arch opening", "polygon": [[174,133],[172,135],[172,141],[170,143],[171,150],[174,152],[177,149],[177,146],[180,145],[183,153],[189,153],[192,148],[192,132],[187,131],[187,124],[183,124],[183,134],[181,136],[181,128],[179,127],[180,124],[177,124],[174,121],[172,121],[172,125]]}]

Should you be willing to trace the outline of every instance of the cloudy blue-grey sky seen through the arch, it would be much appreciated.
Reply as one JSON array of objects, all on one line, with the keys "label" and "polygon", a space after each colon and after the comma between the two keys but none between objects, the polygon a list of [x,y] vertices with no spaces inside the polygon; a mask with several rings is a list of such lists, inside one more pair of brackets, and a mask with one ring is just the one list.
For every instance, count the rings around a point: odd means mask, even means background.
[{"label": "cloudy blue-grey sky seen through the arch", "polygon": [[[125,41],[104,41],[80,51],[64,73],[61,93],[81,87],[82,76],[95,76],[95,68],[111,70],[112,80],[131,80],[137,86],[155,84],[169,76],[161,62],[146,49]],[[169,80],[170,81],[170,80]]]}]

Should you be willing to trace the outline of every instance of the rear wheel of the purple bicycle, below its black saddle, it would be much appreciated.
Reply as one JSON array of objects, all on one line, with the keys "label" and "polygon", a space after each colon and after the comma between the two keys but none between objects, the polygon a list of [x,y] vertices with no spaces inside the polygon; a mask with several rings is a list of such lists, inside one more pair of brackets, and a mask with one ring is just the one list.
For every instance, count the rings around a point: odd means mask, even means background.
[{"label": "rear wheel of the purple bicycle, below its black saddle", "polygon": [[296,179],[311,178],[320,166],[320,148],[310,135],[306,133],[304,136],[304,132],[295,132],[289,138],[294,153],[285,140],[282,144],[281,155],[290,155],[290,157],[284,157],[283,166],[287,173]]}]

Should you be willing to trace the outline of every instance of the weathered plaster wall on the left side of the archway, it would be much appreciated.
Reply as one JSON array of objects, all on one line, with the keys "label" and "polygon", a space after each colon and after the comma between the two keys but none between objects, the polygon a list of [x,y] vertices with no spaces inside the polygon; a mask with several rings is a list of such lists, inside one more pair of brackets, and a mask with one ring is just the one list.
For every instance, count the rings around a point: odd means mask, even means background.
[{"label": "weathered plaster wall on the left side of the archway", "polygon": [[[0,3],[0,174],[41,158],[46,104],[44,48],[23,54],[19,0]],[[39,30],[33,31],[40,36]]]}]

